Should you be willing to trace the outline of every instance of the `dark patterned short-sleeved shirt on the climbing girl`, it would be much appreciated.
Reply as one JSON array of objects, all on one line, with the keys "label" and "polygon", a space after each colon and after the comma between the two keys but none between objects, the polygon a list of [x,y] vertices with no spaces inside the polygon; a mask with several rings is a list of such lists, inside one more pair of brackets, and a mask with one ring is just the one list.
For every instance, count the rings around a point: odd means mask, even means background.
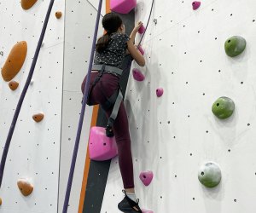
[{"label": "dark patterned short-sleeved shirt on the climbing girl", "polygon": [[96,52],[94,64],[105,64],[121,69],[122,62],[126,55],[127,41],[130,37],[127,34],[114,32],[110,35],[108,47],[102,53]]}]

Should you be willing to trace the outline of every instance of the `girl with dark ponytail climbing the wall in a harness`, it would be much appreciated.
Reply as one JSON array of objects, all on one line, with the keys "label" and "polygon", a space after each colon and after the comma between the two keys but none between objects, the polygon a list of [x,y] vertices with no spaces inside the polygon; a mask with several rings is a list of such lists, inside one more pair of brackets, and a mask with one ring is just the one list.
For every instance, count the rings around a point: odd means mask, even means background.
[{"label": "girl with dark ponytail climbing the wall in a harness", "polygon": [[[142,24],[142,22],[138,22],[129,37],[125,34],[125,25],[119,15],[109,13],[102,19],[102,26],[106,33],[96,43],[96,55],[91,71],[90,94],[87,104],[100,104],[108,118],[113,112],[113,104],[109,100],[116,94],[116,91],[119,91],[119,74],[122,72],[121,65],[125,55],[129,53],[139,66],[145,65],[143,55],[134,45],[138,29]],[[82,83],[83,93],[86,78],[87,76]],[[123,190],[125,198],[118,204],[118,208],[123,212],[142,212],[135,195],[131,139],[123,101],[120,102],[117,117],[107,135],[112,136],[112,131],[118,147],[119,168],[125,188]]]}]

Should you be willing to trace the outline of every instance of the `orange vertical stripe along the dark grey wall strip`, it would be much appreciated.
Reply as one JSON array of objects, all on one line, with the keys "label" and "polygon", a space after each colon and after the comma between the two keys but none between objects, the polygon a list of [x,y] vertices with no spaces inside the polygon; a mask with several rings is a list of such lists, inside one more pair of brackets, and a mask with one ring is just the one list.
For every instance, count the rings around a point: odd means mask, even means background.
[{"label": "orange vertical stripe along the dark grey wall strip", "polygon": [[[110,13],[110,0],[106,0],[106,13],[107,14]],[[90,127],[96,126],[96,121],[98,118],[98,111],[99,111],[98,105],[93,107]],[[82,188],[81,188],[81,193],[80,193],[78,213],[82,213],[83,209],[84,209],[84,199],[85,199],[89,169],[90,169],[90,158],[89,158],[89,150],[88,150],[88,146],[87,146],[87,152],[86,152],[86,158],[85,158],[85,164],[84,164],[84,177],[83,177]]]}]

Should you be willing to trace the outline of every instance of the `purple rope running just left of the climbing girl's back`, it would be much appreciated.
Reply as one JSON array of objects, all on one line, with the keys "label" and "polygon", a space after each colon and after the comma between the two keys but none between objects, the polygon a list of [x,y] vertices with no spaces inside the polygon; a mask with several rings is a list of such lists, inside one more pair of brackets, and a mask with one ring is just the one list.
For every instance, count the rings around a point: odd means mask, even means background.
[{"label": "purple rope running just left of the climbing girl's back", "polygon": [[88,98],[89,84],[90,84],[90,73],[91,73],[91,69],[92,69],[94,51],[96,48],[96,37],[97,37],[97,32],[98,32],[98,27],[99,27],[99,22],[100,22],[101,10],[102,10],[102,0],[99,0],[98,13],[97,13],[97,18],[96,18],[96,26],[95,26],[94,37],[93,37],[93,42],[92,42],[92,47],[91,47],[91,52],[90,52],[90,64],[88,67],[87,79],[86,79],[85,89],[84,89],[83,106],[82,106],[82,109],[80,112],[79,127],[77,130],[77,136],[76,136],[76,141],[75,141],[74,150],[73,150],[73,158],[72,158],[71,168],[70,168],[70,172],[69,172],[69,176],[68,176],[67,190],[66,190],[65,201],[64,201],[62,213],[67,213],[67,206],[68,206],[70,191],[71,191],[71,187],[72,187],[73,172],[75,169],[77,154],[78,154],[78,150],[79,150],[79,141],[80,141],[82,126],[83,126],[83,121],[84,121],[85,106],[86,106],[86,102],[87,102],[87,98]]}]

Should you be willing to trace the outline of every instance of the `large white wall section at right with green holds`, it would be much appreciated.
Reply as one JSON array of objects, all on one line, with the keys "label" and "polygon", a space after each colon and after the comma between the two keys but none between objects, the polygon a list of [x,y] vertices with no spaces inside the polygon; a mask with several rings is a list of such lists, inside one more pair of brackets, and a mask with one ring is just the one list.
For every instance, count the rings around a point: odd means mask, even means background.
[{"label": "large white wall section at right with green holds", "polygon": [[[151,1],[138,0],[136,20],[146,24]],[[137,198],[159,212],[253,213],[256,208],[256,2],[253,0],[155,1],[143,40],[143,82],[129,79],[129,115]],[[157,24],[154,24],[154,19]],[[225,55],[232,36],[247,40],[236,58]],[[137,37],[137,41],[139,40]],[[138,66],[134,63],[133,67]],[[164,95],[156,97],[162,87]],[[236,111],[227,120],[212,103],[228,96]],[[213,189],[197,179],[201,164],[220,165],[223,179]],[[144,187],[138,176],[152,170]],[[117,213],[123,199],[117,158],[113,159],[102,213]]]}]

